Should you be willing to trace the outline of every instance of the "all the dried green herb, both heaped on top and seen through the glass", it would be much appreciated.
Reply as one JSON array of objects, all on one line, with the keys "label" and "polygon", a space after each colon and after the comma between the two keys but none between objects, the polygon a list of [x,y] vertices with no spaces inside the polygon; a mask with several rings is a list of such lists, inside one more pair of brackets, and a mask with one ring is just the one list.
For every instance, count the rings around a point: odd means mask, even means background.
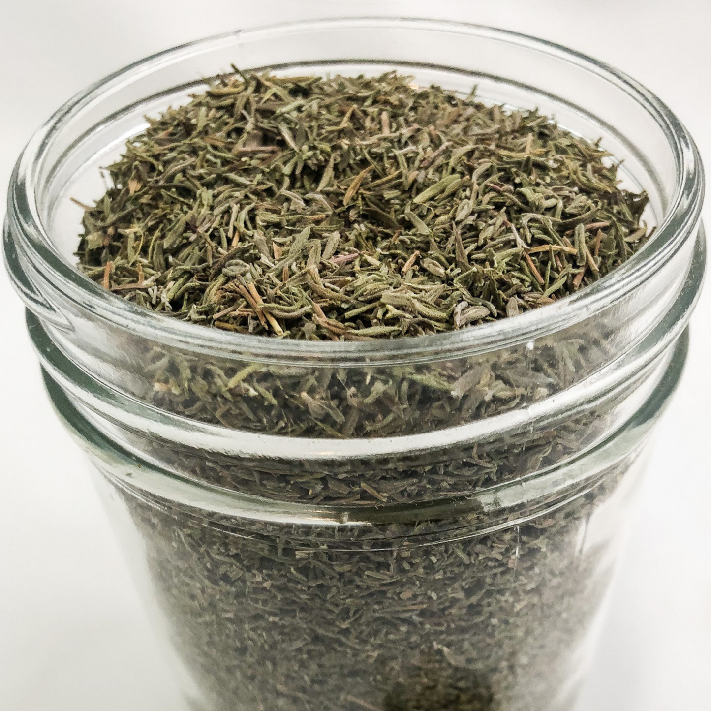
[{"label": "all the dried green herb, both heaped on top and seen through the glass", "polygon": [[[80,268],[203,326],[314,341],[454,331],[574,294],[649,236],[646,196],[619,188],[598,145],[396,73],[236,72],[148,123],[85,207]],[[601,317],[535,348],[355,366],[121,332],[112,366],[138,400],[228,431],[396,437],[546,400],[613,360],[618,331]],[[599,443],[647,376],[574,415],[380,459],[230,456],[114,429],[148,461],[262,503],[358,507],[374,521],[391,505],[440,506],[353,533],[220,517],[120,485],[210,711],[572,708],[609,573],[611,531],[587,538],[589,520],[635,455],[570,491],[532,489],[506,515],[457,507]]]}]

